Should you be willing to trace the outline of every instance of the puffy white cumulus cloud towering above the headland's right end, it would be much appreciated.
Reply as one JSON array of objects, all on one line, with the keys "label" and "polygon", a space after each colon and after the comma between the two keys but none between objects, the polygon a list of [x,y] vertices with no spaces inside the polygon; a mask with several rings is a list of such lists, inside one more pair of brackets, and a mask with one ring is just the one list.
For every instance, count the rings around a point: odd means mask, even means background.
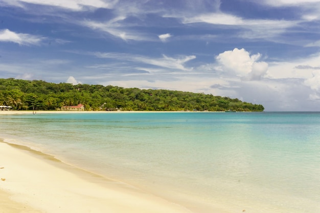
[{"label": "puffy white cumulus cloud towering above the headland's right end", "polygon": [[259,80],[268,70],[266,62],[258,61],[260,58],[260,53],[250,56],[246,50],[235,48],[233,51],[220,53],[216,60],[220,65],[219,69],[223,72],[233,73],[250,80]]}]

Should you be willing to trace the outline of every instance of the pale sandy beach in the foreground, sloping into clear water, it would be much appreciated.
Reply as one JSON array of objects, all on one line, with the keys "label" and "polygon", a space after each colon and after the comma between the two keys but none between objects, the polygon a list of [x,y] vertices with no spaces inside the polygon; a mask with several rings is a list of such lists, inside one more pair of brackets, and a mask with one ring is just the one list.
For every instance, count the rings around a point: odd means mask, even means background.
[{"label": "pale sandy beach in the foreground, sloping into clear water", "polygon": [[[0,212],[190,213],[138,188],[0,141]],[[22,211],[21,211],[22,209]]]}]

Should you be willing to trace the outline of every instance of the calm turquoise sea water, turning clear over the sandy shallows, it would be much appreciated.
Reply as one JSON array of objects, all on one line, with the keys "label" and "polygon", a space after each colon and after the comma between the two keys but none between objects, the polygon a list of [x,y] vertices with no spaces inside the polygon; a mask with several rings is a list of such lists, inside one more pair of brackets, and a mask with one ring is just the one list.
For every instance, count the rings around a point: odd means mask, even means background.
[{"label": "calm turquoise sea water, turning clear over the sandy shallows", "polygon": [[320,212],[320,113],[0,115],[0,137],[193,212]]}]

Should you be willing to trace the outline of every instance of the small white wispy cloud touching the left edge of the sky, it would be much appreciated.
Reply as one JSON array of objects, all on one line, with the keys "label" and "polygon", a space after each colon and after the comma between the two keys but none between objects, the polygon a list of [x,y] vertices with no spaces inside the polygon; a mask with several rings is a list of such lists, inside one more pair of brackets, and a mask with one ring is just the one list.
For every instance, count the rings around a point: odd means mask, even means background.
[{"label": "small white wispy cloud touching the left edge of the sky", "polygon": [[43,37],[25,34],[15,33],[8,29],[0,31],[0,41],[3,42],[14,42],[20,45],[38,45],[43,40]]}]

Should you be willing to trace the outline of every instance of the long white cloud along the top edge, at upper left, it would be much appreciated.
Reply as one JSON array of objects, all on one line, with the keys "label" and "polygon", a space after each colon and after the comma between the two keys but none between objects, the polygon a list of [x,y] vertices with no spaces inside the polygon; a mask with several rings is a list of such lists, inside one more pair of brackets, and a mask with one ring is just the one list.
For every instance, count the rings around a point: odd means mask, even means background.
[{"label": "long white cloud along the top edge, at upper left", "polygon": [[118,0],[2,0],[8,5],[23,7],[22,3],[60,7],[67,10],[81,11],[87,8],[112,8]]}]

